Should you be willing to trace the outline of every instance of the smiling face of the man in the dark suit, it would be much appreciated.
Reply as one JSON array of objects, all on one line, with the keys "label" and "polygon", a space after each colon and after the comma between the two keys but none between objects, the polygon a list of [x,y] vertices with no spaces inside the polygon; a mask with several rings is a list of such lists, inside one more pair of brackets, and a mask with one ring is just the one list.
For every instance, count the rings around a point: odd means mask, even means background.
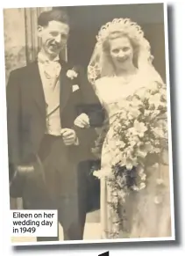
[{"label": "smiling face of the man in the dark suit", "polygon": [[52,20],[47,26],[39,26],[39,37],[46,55],[53,58],[65,48],[68,40],[69,26],[60,21]]}]

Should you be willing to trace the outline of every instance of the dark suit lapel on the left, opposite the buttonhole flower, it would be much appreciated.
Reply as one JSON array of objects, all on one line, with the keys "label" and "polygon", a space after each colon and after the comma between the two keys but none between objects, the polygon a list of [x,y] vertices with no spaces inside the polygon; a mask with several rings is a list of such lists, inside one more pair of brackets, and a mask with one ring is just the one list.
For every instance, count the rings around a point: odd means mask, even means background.
[{"label": "dark suit lapel on the left, opposite the buttonhole flower", "polygon": [[40,112],[46,114],[46,100],[37,62],[33,62],[31,64],[30,77],[30,80],[27,82],[31,85],[30,88],[32,88],[33,99],[35,100]]}]

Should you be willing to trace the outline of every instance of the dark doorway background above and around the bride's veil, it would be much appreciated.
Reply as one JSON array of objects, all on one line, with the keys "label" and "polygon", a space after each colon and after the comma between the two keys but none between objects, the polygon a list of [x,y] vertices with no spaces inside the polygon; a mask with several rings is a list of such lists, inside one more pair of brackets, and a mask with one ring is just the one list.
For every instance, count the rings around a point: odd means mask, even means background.
[{"label": "dark doorway background above and around the bride's veil", "polygon": [[71,22],[68,61],[85,69],[101,26],[113,18],[131,18],[142,27],[154,55],[153,64],[166,82],[163,4],[117,4],[70,6],[65,8]]}]

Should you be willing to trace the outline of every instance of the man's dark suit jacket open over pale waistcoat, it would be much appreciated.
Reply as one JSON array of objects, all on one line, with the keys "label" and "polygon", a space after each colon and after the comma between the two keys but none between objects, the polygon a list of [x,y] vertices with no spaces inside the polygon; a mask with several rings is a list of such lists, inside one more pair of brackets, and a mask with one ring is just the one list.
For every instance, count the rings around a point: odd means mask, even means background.
[{"label": "man's dark suit jacket open over pale waistcoat", "polygon": [[[60,64],[61,126],[74,128],[80,142],[79,146],[70,146],[69,154],[71,159],[88,159],[96,139],[95,127],[102,123],[101,105],[82,69],[71,80],[67,71],[72,67],[63,61]],[[73,84],[78,84],[80,90],[73,92]],[[76,116],[84,112],[89,114],[93,128],[74,126]],[[18,165],[38,152],[46,131],[46,102],[37,62],[11,71],[7,84],[7,122],[9,161]]]}]

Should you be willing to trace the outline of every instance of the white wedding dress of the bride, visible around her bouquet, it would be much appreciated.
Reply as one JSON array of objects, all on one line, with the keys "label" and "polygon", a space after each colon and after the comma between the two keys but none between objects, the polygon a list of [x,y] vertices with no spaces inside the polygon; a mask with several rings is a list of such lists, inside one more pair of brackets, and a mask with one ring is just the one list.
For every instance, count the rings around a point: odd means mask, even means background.
[{"label": "white wedding dress of the bride, visible around her bouquet", "polygon": [[[102,170],[111,172],[111,165],[115,163],[117,152],[115,146],[117,139],[112,138],[115,113],[119,112],[120,103],[137,91],[139,87],[147,87],[152,83],[152,78],[142,72],[132,76],[126,81],[124,77],[102,77],[96,80],[95,90],[98,98],[109,115],[109,131],[104,139],[102,148]],[[119,104],[117,104],[119,103]],[[114,149],[114,150],[113,150]],[[160,165],[159,172],[152,172],[146,166],[147,186],[137,193],[131,193],[121,208],[123,230],[119,231],[117,238],[152,238],[171,236],[171,215],[169,197],[169,172],[168,165]],[[156,180],[163,179],[164,186],[157,187]],[[162,201],[155,201],[156,195],[162,196]],[[117,216],[110,208],[113,200],[113,191],[107,179],[101,179],[101,236],[114,238],[114,223],[117,223]]]}]

